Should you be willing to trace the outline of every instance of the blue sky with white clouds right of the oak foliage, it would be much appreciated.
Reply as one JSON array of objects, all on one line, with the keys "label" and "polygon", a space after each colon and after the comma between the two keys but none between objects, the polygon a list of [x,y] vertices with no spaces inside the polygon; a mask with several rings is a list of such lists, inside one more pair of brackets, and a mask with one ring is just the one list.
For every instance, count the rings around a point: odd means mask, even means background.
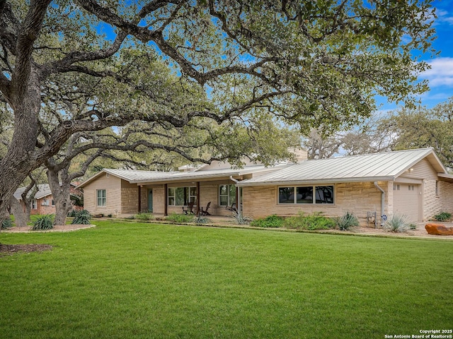
[{"label": "blue sky with white clouds right of the oak foliage", "polygon": [[[436,8],[437,19],[435,29],[437,39],[433,47],[440,54],[432,59],[424,59],[431,69],[420,74],[420,79],[428,79],[430,90],[421,95],[421,104],[434,107],[453,97],[453,0],[435,0],[432,5]],[[382,110],[395,109],[395,103],[383,102]]]}]

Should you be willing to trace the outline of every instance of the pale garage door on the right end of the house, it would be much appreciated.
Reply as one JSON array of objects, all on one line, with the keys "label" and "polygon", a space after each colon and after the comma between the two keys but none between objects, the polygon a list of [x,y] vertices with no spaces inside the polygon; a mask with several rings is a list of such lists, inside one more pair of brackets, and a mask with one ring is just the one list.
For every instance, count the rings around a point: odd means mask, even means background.
[{"label": "pale garage door on the right end of the house", "polygon": [[420,185],[394,184],[394,213],[406,215],[411,222],[418,220]]}]

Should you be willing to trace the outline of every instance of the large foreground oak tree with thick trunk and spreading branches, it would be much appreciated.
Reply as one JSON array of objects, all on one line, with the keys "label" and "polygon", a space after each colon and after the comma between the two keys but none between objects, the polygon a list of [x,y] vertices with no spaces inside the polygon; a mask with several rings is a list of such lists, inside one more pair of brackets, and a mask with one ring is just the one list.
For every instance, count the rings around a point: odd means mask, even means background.
[{"label": "large foreground oak tree with thick trunk and spreading branches", "polygon": [[[372,112],[375,94],[425,90],[411,51],[430,48],[430,1],[125,2],[0,0],[0,99],[13,113],[0,210],[74,133],[131,121],[229,131],[265,113],[336,128]],[[214,143],[205,130],[200,143]]]}]

